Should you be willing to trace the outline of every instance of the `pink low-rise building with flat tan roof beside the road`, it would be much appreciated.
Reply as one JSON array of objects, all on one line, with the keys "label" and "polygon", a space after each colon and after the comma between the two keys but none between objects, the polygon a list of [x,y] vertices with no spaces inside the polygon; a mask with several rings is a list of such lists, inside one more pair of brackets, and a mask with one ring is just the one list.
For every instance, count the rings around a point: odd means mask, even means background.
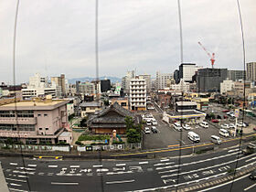
[{"label": "pink low-rise building with flat tan roof beside the road", "polygon": [[0,102],[0,139],[12,138],[24,144],[56,144],[66,140],[70,143],[72,133],[63,140],[62,133],[69,129],[67,100]]}]

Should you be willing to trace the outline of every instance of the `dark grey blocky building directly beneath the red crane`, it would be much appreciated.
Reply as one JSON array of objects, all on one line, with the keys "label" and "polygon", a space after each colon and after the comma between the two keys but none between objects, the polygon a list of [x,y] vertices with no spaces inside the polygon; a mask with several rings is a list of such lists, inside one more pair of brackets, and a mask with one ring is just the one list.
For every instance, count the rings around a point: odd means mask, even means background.
[{"label": "dark grey blocky building directly beneath the red crane", "polygon": [[217,92],[220,91],[220,83],[228,77],[228,69],[198,69],[197,91]]}]

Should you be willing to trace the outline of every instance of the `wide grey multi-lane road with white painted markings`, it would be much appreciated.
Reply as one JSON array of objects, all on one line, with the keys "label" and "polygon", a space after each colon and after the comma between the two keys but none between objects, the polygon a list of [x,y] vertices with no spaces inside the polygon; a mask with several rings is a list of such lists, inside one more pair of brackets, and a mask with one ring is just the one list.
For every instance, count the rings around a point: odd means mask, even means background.
[{"label": "wide grey multi-lane road with white painted markings", "polygon": [[[239,153],[233,147],[211,154],[188,155],[181,158],[180,166],[176,157],[118,161],[24,159],[24,162],[22,158],[1,157],[0,161],[10,191],[147,191],[189,187],[225,176],[234,168],[238,155],[239,168],[256,164],[256,154]],[[232,191],[240,190],[233,187]]]}]

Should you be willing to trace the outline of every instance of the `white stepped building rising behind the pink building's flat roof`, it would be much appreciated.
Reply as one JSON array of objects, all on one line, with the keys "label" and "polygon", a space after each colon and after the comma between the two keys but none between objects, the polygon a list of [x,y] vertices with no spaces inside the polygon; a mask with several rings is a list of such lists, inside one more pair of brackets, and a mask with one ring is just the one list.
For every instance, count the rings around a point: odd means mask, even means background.
[{"label": "white stepped building rising behind the pink building's flat roof", "polygon": [[56,98],[61,95],[61,88],[55,83],[52,85],[48,84],[48,80],[41,77],[39,73],[36,73],[35,76],[30,77],[27,88],[22,89],[21,91],[22,98],[24,100],[46,95],[51,95],[53,98]]}]

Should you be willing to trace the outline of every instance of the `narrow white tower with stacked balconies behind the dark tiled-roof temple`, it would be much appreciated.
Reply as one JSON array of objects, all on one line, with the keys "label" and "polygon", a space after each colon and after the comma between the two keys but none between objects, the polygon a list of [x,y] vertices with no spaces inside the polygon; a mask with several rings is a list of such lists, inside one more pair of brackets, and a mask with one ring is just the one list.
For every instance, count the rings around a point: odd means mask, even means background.
[{"label": "narrow white tower with stacked balconies behind the dark tiled-roof temple", "polygon": [[139,77],[130,81],[130,110],[146,110],[146,81]]}]

